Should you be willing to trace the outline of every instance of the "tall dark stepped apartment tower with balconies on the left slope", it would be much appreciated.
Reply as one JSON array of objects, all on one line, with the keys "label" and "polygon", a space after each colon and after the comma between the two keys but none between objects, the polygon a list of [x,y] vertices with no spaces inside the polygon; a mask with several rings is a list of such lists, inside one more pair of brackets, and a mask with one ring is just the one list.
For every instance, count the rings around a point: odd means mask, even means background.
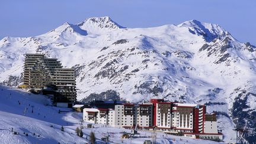
[{"label": "tall dark stepped apartment tower with balconies on the left slope", "polygon": [[63,68],[59,60],[44,54],[25,54],[23,82],[27,89],[37,92],[49,90],[47,85],[55,85],[57,105],[72,107],[76,101],[75,70]]}]

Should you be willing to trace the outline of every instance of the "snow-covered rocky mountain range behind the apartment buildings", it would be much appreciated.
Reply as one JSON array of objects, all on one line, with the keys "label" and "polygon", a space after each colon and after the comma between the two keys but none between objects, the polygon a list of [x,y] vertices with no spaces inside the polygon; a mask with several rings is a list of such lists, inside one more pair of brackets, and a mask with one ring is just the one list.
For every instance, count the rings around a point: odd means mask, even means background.
[{"label": "snow-covered rocky mountain range behind the apartment buildings", "polygon": [[76,69],[78,100],[109,96],[141,102],[157,96],[206,103],[208,112],[217,111],[238,125],[249,121],[252,130],[255,50],[217,24],[191,20],[124,28],[109,17],[87,18],[36,37],[2,39],[0,81],[18,85],[23,54],[46,53]]}]

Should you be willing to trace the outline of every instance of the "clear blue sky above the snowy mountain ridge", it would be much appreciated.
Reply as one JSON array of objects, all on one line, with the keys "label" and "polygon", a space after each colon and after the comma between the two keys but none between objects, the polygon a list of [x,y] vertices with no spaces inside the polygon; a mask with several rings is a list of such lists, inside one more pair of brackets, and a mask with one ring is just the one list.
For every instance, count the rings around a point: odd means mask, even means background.
[{"label": "clear blue sky above the snowy mountain ridge", "polygon": [[0,39],[46,33],[68,21],[109,16],[128,27],[199,20],[221,25],[236,39],[256,45],[255,0],[1,0]]}]

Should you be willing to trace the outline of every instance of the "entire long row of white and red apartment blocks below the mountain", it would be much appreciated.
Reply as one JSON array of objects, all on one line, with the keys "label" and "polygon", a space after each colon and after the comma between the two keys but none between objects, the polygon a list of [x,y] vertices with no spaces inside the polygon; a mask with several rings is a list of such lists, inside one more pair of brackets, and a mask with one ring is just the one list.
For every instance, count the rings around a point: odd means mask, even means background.
[{"label": "entire long row of white and red apartment blocks below the mountain", "polygon": [[[95,111],[94,121],[88,117],[92,111]],[[186,137],[222,140],[222,133],[217,131],[216,114],[206,114],[205,105],[152,99],[151,103],[115,105],[114,109],[106,110],[105,114],[108,116],[101,121],[98,118],[99,114],[100,108],[85,108],[84,121],[126,129],[137,127],[137,129],[182,134]]]}]

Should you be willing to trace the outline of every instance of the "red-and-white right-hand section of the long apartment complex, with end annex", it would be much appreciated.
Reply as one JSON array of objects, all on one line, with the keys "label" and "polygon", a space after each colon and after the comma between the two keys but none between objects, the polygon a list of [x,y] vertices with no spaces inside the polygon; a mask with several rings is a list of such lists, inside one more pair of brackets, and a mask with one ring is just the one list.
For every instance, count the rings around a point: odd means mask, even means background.
[{"label": "red-and-white right-hand section of the long apartment complex, with end annex", "polygon": [[216,114],[206,114],[206,105],[164,102],[162,99],[153,99],[151,103],[155,130],[200,139],[223,139],[222,133],[217,131]]}]

